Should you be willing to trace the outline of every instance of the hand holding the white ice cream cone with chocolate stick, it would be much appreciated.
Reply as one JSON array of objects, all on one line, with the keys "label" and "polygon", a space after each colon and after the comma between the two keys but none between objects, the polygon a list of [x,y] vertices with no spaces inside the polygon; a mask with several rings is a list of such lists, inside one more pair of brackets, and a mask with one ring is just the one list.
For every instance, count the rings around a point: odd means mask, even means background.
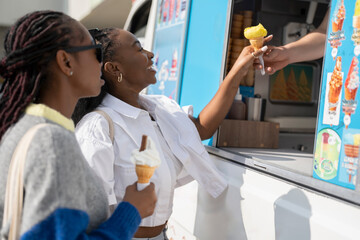
[{"label": "hand holding the white ice cream cone with chocolate stick", "polygon": [[157,202],[155,185],[150,183],[144,190],[138,191],[134,183],[126,188],[123,201],[131,203],[139,211],[141,218],[151,216]]}]

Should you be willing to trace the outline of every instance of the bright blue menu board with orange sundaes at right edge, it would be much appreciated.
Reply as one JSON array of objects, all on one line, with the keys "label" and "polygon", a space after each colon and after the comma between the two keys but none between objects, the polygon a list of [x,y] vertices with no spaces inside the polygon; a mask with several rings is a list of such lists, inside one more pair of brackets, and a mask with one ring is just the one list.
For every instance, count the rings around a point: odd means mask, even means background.
[{"label": "bright blue menu board with orange sundaes at right edge", "polygon": [[360,146],[360,0],[331,2],[322,73],[313,176],[357,185]]}]

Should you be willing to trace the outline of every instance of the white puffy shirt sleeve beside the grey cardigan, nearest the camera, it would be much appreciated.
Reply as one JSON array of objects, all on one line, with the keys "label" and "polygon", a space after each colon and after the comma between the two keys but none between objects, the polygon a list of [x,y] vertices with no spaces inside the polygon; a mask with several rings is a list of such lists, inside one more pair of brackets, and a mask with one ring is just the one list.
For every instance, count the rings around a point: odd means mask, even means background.
[{"label": "white puffy shirt sleeve beside the grey cardigan, nearest the camera", "polygon": [[117,203],[114,192],[114,146],[109,123],[97,113],[86,115],[76,126],[76,138],[86,161],[103,180],[109,205]]}]

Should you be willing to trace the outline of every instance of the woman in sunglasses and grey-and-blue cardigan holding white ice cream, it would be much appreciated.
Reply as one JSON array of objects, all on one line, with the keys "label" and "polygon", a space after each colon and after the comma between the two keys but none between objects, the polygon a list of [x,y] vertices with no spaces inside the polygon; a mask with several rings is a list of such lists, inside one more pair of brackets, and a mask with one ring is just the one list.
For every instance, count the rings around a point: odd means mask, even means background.
[{"label": "woman in sunglasses and grey-and-blue cardigan holding white ice cream", "polygon": [[[28,129],[47,123],[26,154],[21,239],[131,239],[141,218],[153,212],[154,185],[138,192],[129,184],[109,216],[103,183],[84,159],[70,119],[79,98],[100,92],[101,45],[69,16],[37,11],[10,28],[4,47],[0,223],[14,149]],[[7,239],[9,225],[4,223],[1,239]]]}]

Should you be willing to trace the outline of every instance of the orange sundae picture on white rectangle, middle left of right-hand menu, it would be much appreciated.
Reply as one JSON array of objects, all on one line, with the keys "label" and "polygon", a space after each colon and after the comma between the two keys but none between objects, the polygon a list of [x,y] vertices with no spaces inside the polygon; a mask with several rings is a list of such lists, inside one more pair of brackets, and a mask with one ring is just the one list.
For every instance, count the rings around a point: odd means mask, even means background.
[{"label": "orange sundae picture on white rectangle, middle left of right-hand menu", "polygon": [[342,70],[341,57],[336,58],[335,67],[332,73],[327,75],[326,96],[324,104],[323,123],[329,125],[339,125],[341,89],[343,85],[344,73]]}]

